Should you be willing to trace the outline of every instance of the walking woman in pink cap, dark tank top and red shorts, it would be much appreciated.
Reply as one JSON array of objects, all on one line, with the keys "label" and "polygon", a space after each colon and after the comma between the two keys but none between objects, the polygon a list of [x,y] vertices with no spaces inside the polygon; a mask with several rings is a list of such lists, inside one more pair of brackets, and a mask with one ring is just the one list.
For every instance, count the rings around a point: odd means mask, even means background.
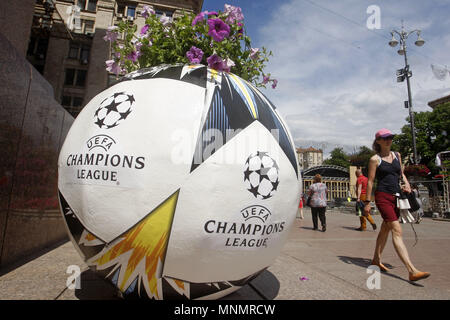
[{"label": "walking woman in pink cap, dark tank top and red shorts", "polygon": [[377,237],[372,265],[378,266],[381,271],[388,271],[386,266],[381,263],[381,253],[386,245],[389,233],[392,233],[392,242],[395,251],[409,272],[409,280],[417,281],[428,278],[430,273],[419,271],[414,267],[403,242],[402,227],[398,221],[400,211],[397,208],[395,194],[400,192],[400,178],[404,182],[404,185],[401,187],[404,192],[411,192],[411,187],[403,174],[400,154],[391,151],[393,137],[394,135],[388,129],[379,130],[375,134],[375,141],[373,142],[373,149],[377,154],[370,158],[369,161],[369,181],[367,183],[367,199],[364,201],[364,211],[367,214],[370,212],[373,182],[377,178],[375,204],[383,218],[383,224]]}]

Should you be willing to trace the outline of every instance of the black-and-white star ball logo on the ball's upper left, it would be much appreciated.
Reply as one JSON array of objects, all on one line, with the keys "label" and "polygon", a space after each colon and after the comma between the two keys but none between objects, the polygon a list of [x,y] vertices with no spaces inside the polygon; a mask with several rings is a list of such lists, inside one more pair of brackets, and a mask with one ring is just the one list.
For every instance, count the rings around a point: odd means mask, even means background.
[{"label": "black-and-white star ball logo on the ball's upper left", "polygon": [[116,92],[105,98],[94,114],[94,123],[100,129],[117,127],[132,111],[134,96],[126,92]]}]

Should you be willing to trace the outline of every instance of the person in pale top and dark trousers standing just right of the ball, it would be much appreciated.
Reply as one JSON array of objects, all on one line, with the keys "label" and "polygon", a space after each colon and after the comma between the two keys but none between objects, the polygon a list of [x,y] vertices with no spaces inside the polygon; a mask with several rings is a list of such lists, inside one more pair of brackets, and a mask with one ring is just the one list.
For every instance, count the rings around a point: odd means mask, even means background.
[{"label": "person in pale top and dark trousers standing just right of the ball", "polygon": [[325,211],[327,209],[327,186],[322,183],[322,176],[316,174],[314,176],[313,184],[309,187],[308,196],[311,197],[311,215],[313,219],[314,230],[317,230],[317,216],[319,216],[322,224],[322,231],[327,230],[327,221],[325,218]]}]

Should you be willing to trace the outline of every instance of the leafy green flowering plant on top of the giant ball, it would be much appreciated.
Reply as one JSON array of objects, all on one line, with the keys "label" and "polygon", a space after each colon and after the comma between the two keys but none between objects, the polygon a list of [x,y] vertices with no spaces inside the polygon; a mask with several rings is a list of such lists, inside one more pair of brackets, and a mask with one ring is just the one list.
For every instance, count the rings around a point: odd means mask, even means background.
[{"label": "leafy green flowering plant on top of the giant ball", "polygon": [[[196,19],[200,15],[203,18]],[[195,47],[203,52],[200,64],[208,65],[207,59],[215,54],[231,67],[225,71],[237,74],[259,87],[265,87],[270,82],[273,83],[273,88],[276,86],[277,81],[263,72],[272,52],[261,48],[254,53],[251,39],[245,34],[241,23],[243,21],[230,20],[230,12],[219,11],[218,15],[202,12],[200,15],[196,17],[192,13],[184,13],[170,23],[163,23],[161,18],[150,13],[145,19],[148,26],[146,32],[137,30],[136,25],[130,21],[121,21],[118,28],[109,30],[105,37],[105,40],[111,41],[113,54],[113,60],[107,61],[107,70],[123,74],[160,64],[189,64],[192,62],[186,53]],[[229,35],[222,41],[217,41],[208,34],[210,18],[221,19],[229,26]],[[124,40],[116,39],[116,34],[123,34]]]}]

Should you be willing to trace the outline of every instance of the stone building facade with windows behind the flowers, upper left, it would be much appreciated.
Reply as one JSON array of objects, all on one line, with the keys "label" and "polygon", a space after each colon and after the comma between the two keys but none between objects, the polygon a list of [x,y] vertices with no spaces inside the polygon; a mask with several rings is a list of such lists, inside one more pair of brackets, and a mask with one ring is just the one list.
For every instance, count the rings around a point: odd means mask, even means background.
[{"label": "stone building facade with windows behind the flowers, upper left", "polygon": [[176,18],[198,13],[203,0],[36,0],[27,59],[54,88],[55,99],[74,117],[115,75],[109,74],[109,26],[127,19],[140,30],[143,7]]}]

